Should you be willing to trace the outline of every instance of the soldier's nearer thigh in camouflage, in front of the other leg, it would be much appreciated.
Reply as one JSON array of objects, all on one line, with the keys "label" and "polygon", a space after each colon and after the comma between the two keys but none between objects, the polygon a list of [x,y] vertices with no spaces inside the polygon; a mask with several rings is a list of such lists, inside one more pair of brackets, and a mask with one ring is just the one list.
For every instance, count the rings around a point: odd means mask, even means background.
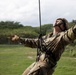
[{"label": "soldier's nearer thigh in camouflage, in front of the other leg", "polygon": [[37,62],[27,75],[47,75],[47,66],[44,62]]}]

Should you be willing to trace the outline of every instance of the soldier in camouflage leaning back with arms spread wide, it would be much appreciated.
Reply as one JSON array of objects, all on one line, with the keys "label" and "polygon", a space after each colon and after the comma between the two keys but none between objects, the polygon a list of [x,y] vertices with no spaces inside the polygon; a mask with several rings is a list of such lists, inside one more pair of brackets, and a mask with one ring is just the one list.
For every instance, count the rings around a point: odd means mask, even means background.
[{"label": "soldier in camouflage leaning back with arms spread wide", "polygon": [[[53,33],[42,37],[42,49],[37,55],[37,61],[29,66],[22,75],[52,75],[65,46],[76,38],[76,26],[68,29],[68,22],[58,18],[53,24]],[[38,39],[24,39],[17,35],[12,41],[20,41],[29,47],[38,47]]]}]

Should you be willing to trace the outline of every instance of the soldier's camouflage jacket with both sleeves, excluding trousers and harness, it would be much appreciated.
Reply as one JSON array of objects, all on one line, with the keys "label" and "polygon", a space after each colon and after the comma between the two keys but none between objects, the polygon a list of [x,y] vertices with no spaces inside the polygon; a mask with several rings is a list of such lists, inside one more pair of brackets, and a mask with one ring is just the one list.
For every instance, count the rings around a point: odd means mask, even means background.
[{"label": "soldier's camouflage jacket with both sleeves, excluding trousers and harness", "polygon": [[[47,47],[51,49],[55,55],[56,61],[61,57],[64,52],[66,45],[70,44],[76,38],[76,26],[68,29],[65,32],[60,32],[57,35],[52,35],[52,33],[42,37]],[[38,38],[36,39],[24,39],[20,38],[20,42],[25,44],[25,46],[36,48],[38,46]],[[43,43],[44,45],[44,43]]]}]

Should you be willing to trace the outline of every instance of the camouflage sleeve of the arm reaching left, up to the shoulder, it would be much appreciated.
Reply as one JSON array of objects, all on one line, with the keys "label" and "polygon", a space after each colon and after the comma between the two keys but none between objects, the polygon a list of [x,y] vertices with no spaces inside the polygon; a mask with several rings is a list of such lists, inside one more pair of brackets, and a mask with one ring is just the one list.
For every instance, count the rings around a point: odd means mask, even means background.
[{"label": "camouflage sleeve of the arm reaching left, up to the shoulder", "polygon": [[[50,37],[50,34],[42,36],[42,39],[45,40],[48,37]],[[30,39],[30,38],[19,38],[19,42],[24,44],[27,47],[31,47],[31,48],[37,48],[39,45],[39,40],[38,38],[35,39]]]}]

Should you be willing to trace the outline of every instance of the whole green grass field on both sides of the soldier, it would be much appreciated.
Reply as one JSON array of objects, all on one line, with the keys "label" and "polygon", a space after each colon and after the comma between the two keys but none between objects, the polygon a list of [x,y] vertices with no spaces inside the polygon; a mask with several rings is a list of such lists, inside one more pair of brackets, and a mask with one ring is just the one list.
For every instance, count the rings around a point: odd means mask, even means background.
[{"label": "whole green grass field on both sides of the soldier", "polygon": [[[0,45],[0,75],[21,75],[35,58],[36,49]],[[66,48],[53,75],[76,75],[76,47]]]}]

